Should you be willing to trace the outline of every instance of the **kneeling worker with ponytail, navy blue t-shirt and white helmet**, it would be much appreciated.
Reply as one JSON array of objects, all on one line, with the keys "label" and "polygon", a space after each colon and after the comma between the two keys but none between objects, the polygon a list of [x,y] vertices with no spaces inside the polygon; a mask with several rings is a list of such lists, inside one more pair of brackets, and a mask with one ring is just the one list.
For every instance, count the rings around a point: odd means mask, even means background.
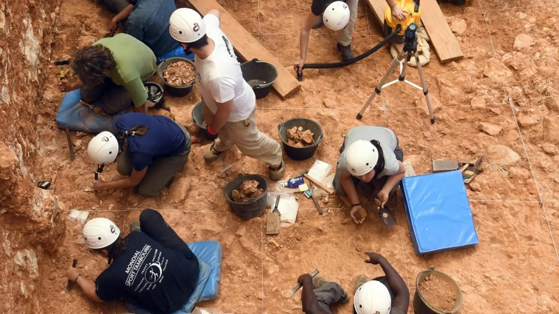
[{"label": "kneeling worker with ponytail, navy blue t-shirt and white helmet", "polygon": [[96,180],[93,190],[137,187],[144,197],[159,195],[188,160],[190,134],[163,115],[131,112],[115,123],[119,129],[116,136],[106,131],[97,134],[89,142],[87,154],[97,165],[116,160],[117,171],[127,177],[112,182]]}]

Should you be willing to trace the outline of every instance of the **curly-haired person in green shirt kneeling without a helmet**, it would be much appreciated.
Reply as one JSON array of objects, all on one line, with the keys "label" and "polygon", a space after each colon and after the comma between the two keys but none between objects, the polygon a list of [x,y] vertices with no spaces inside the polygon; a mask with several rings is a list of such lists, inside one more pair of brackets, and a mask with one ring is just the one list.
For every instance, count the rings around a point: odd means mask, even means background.
[{"label": "curly-haired person in green shirt kneeling without a helmet", "polygon": [[155,55],[143,42],[120,33],[103,38],[79,50],[72,62],[77,81],[59,83],[60,91],[81,88],[82,99],[100,101],[108,114],[125,110],[134,103],[136,112],[148,112],[155,103],[148,100],[144,81],[156,70]]}]

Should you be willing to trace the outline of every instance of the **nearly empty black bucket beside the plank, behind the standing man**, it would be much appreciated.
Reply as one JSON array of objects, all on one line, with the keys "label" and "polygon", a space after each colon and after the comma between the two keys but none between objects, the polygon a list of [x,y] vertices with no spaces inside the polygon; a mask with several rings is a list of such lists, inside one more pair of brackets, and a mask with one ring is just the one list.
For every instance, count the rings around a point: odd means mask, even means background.
[{"label": "nearly empty black bucket beside the plank, behind the standing man", "polygon": [[266,97],[278,78],[278,70],[273,64],[258,59],[241,63],[241,72],[243,79],[252,87],[256,99]]}]

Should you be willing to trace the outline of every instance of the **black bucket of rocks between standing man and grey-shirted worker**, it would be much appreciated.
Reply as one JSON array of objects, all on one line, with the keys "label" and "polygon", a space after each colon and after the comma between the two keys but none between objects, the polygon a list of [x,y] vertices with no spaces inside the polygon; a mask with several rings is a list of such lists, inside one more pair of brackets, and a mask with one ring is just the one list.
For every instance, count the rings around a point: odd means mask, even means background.
[{"label": "black bucket of rocks between standing man and grey-shirted worker", "polygon": [[[287,130],[292,127],[302,127],[305,130],[310,130],[314,133],[313,139],[315,140],[312,145],[307,147],[294,147],[287,144]],[[280,133],[280,139],[283,143],[283,150],[292,160],[306,160],[312,157],[318,148],[318,144],[322,141],[324,137],[324,132],[314,120],[305,118],[293,118],[284,121],[282,124],[278,125],[278,132]]]}]

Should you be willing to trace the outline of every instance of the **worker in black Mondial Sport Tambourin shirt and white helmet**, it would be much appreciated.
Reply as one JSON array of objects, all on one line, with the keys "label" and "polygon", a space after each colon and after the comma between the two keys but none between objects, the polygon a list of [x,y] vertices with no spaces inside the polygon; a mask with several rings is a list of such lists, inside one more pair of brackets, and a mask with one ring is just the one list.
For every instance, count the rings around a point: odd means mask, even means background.
[{"label": "worker in black Mondial Sport Tambourin shirt and white helmet", "polygon": [[138,314],[167,314],[196,303],[210,268],[165,223],[159,212],[145,209],[139,223],[122,236],[106,218],[93,218],[83,226],[84,242],[90,252],[108,258],[110,264],[89,281],[79,268],[70,267],[68,279],[93,301],[122,300]]}]

